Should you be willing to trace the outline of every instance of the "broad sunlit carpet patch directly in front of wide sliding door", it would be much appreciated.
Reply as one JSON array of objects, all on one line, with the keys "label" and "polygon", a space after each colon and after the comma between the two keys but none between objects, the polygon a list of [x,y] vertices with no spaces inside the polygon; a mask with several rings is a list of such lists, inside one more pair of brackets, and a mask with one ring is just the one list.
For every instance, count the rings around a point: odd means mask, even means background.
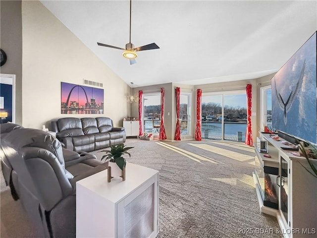
[{"label": "broad sunlit carpet patch directly in front of wide sliding door", "polygon": [[241,153],[234,152],[234,151],[229,151],[229,150],[222,149],[222,148],[219,148],[219,147],[215,147],[215,146],[212,146],[212,145],[191,144],[191,143],[189,143],[189,145],[192,145],[192,146],[201,148],[203,150],[207,150],[207,151],[216,153],[218,155],[223,155],[225,157],[228,157],[230,159],[237,160],[237,161],[240,161],[240,162],[245,162],[245,161],[248,161],[248,160],[254,160],[254,157],[252,157],[252,156],[241,154]]}]

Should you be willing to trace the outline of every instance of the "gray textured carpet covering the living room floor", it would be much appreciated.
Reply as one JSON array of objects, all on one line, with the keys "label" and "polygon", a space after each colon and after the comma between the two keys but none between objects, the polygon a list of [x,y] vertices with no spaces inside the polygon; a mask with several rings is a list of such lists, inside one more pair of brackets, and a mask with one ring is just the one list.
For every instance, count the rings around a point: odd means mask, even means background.
[{"label": "gray textured carpet covering the living room floor", "polygon": [[[276,219],[260,212],[252,147],[139,139],[127,139],[126,145],[135,147],[128,162],[159,170],[158,238],[283,237],[276,233]],[[3,179],[0,195],[1,238],[37,237]],[[259,229],[264,234],[257,234]]]}]

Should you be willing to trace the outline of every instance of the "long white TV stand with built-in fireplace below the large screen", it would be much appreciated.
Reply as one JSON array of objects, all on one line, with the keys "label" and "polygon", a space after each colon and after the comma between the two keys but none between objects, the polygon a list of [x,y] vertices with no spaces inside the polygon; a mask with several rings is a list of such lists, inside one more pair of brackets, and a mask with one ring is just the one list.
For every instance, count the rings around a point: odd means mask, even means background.
[{"label": "long white TV stand with built-in fireplace below the large screen", "polygon": [[[256,148],[256,170],[254,180],[261,212],[275,216],[284,238],[316,238],[317,237],[317,178],[307,172],[303,166],[310,169],[305,157],[295,156],[281,147],[288,147],[281,141],[260,132],[260,137],[267,141],[268,155],[264,157]],[[283,140],[280,138],[279,140]],[[290,146],[289,146],[290,147]],[[312,160],[317,165],[316,160]],[[302,166],[302,165],[303,166]],[[257,167],[258,165],[258,167]],[[259,168],[278,168],[278,175],[272,186],[276,187],[278,208],[274,209],[264,205],[263,190],[264,178]],[[263,177],[263,178],[259,178]],[[267,181],[265,181],[267,185]],[[267,192],[266,192],[267,194]]]}]

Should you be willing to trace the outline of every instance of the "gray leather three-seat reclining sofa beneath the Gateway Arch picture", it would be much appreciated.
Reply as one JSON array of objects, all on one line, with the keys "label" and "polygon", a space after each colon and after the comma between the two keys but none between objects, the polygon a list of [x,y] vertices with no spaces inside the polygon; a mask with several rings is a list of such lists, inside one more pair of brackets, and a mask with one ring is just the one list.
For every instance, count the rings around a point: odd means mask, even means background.
[{"label": "gray leather three-seat reclining sofa beneath the Gateway Arch picture", "polygon": [[110,118],[60,118],[52,121],[52,130],[64,147],[73,151],[93,151],[124,143],[124,127],[113,127]]}]

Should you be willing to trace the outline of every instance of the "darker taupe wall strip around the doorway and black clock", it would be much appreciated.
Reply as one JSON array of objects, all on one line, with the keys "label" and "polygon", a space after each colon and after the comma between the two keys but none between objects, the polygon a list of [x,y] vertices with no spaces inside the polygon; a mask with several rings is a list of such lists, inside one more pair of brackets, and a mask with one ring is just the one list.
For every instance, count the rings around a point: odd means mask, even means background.
[{"label": "darker taupe wall strip around the doorway and black clock", "polygon": [[7,56],[0,72],[15,74],[15,122],[22,124],[21,1],[0,1],[0,8],[0,47]]}]

